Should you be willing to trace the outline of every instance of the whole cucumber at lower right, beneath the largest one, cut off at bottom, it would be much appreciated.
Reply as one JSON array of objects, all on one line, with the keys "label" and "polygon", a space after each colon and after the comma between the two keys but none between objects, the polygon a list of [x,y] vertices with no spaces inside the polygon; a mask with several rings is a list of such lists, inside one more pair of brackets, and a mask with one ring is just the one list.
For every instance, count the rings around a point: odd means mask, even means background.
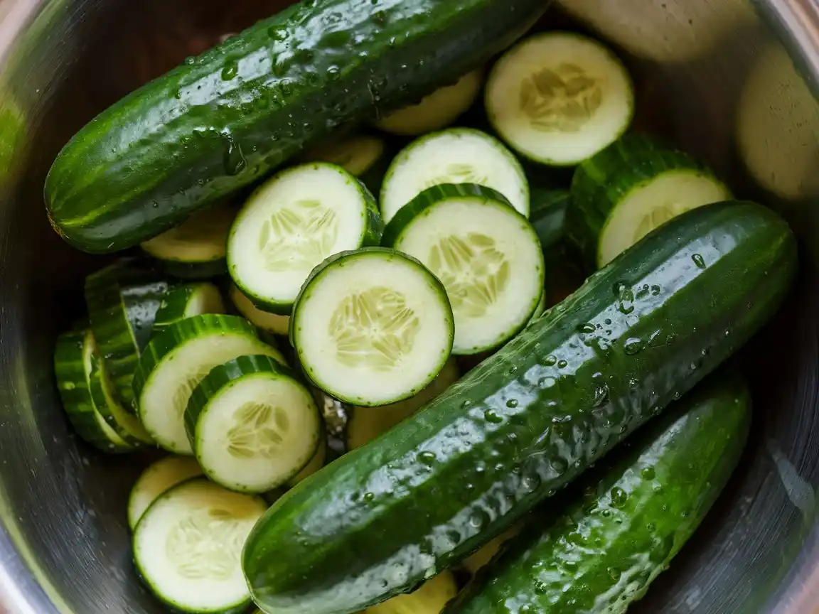
[{"label": "whole cucumber at lower right, beneath the largest one, cut off at bottom", "polygon": [[584,479],[581,499],[533,522],[445,612],[619,614],[641,598],[740,460],[749,391],[721,375],[628,440]]}]

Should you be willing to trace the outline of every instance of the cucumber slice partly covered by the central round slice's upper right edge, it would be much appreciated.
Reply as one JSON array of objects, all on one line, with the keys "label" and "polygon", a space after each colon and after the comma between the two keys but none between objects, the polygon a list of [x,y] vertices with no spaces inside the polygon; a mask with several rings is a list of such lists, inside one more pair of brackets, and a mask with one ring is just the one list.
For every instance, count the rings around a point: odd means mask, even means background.
[{"label": "cucumber slice partly covered by the central round slice's upper right edge", "polygon": [[446,287],[453,354],[491,350],[526,326],[543,294],[543,251],[523,215],[488,187],[433,186],[398,212],[384,244],[418,258]]}]

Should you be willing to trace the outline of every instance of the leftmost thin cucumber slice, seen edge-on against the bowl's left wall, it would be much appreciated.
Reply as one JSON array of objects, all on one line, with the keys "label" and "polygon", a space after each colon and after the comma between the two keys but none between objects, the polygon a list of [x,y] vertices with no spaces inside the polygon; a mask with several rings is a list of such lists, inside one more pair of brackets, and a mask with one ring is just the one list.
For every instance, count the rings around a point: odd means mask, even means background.
[{"label": "leftmost thin cucumber slice, seen edge-on against the bowl's left wall", "polygon": [[103,452],[131,452],[134,446],[118,436],[94,406],[88,380],[95,350],[90,330],[69,331],[57,338],[54,350],[57,390],[77,435]]}]

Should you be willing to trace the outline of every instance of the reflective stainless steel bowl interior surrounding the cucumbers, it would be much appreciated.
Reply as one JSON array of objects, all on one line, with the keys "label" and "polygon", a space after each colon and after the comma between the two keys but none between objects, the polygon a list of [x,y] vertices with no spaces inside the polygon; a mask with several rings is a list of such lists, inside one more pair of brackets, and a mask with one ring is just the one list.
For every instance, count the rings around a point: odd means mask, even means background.
[{"label": "reflective stainless steel bowl interior surrounding the cucumbers", "polygon": [[[267,2],[0,2],[0,612],[163,612],[138,583],[125,497],[142,458],[71,435],[52,382],[88,256],[45,218],[61,145],[143,81],[274,11]],[[781,210],[799,287],[737,362],[752,445],[717,508],[633,612],[819,612],[819,7],[810,0],[562,0],[554,25],[627,56],[641,127]]]}]

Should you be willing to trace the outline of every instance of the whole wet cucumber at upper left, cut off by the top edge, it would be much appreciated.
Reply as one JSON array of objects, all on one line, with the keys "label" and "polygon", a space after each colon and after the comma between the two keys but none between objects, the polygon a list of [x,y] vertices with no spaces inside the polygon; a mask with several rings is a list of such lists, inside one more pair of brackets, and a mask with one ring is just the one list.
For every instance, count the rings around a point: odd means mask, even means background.
[{"label": "whole wet cucumber at upper left, cut off by the top edge", "polygon": [[79,249],[136,245],[326,137],[456,79],[544,0],[305,0],[97,115],[48,173],[48,217]]}]

